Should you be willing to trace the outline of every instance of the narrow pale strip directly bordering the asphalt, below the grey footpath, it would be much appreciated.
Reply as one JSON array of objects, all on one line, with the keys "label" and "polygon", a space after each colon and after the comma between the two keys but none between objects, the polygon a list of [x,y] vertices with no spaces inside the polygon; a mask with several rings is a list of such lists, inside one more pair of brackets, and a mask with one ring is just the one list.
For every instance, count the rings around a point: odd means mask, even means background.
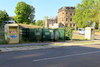
[{"label": "narrow pale strip directly bordering the asphalt, below the grey footpath", "polygon": [[14,47],[1,47],[0,52],[10,52],[10,51],[22,51],[22,50],[34,50],[34,49],[47,49],[47,48],[58,48],[58,47],[65,47],[65,46],[79,46],[79,45],[94,45],[100,44],[99,41],[79,41],[79,42],[58,42],[49,45],[37,45],[37,46],[14,46]]}]

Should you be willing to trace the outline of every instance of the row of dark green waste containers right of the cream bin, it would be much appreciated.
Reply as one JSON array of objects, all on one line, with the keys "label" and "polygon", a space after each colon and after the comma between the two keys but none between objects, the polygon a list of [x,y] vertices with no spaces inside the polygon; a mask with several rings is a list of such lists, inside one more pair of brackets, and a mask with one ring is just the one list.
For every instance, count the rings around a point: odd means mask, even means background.
[{"label": "row of dark green waste containers right of the cream bin", "polygon": [[[67,34],[67,35],[66,35]],[[60,41],[72,39],[72,31],[68,32],[63,29],[29,29],[23,28],[21,33],[21,40],[23,41]]]}]

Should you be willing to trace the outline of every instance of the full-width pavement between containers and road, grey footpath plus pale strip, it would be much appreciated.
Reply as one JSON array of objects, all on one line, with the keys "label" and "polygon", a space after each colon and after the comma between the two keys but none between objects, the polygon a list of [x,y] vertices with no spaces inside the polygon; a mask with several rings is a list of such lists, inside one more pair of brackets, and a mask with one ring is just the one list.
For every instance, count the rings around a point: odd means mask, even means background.
[{"label": "full-width pavement between containers and road, grey footpath plus pale strip", "polygon": [[82,45],[100,45],[100,40],[0,45],[0,52],[58,48],[64,46],[82,46]]}]

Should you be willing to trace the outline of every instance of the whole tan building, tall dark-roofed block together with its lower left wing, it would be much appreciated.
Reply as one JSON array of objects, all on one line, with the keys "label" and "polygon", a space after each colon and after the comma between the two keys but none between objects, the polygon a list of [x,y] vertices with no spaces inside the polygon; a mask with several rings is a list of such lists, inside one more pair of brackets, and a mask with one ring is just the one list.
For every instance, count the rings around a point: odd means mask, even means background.
[{"label": "whole tan building, tall dark-roofed block together with its lower left wing", "polygon": [[62,7],[58,10],[57,18],[45,20],[46,28],[73,27],[77,29],[76,24],[72,21],[75,15],[75,7]]}]

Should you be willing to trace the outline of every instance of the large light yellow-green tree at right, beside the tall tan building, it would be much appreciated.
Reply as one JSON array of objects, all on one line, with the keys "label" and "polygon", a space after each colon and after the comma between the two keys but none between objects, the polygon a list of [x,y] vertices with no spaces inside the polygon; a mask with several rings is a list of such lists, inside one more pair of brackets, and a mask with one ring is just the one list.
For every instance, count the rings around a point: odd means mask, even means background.
[{"label": "large light yellow-green tree at right, beside the tall tan building", "polygon": [[76,13],[73,21],[79,28],[88,26],[88,21],[97,22],[98,20],[98,2],[100,0],[83,0],[76,6]]}]

